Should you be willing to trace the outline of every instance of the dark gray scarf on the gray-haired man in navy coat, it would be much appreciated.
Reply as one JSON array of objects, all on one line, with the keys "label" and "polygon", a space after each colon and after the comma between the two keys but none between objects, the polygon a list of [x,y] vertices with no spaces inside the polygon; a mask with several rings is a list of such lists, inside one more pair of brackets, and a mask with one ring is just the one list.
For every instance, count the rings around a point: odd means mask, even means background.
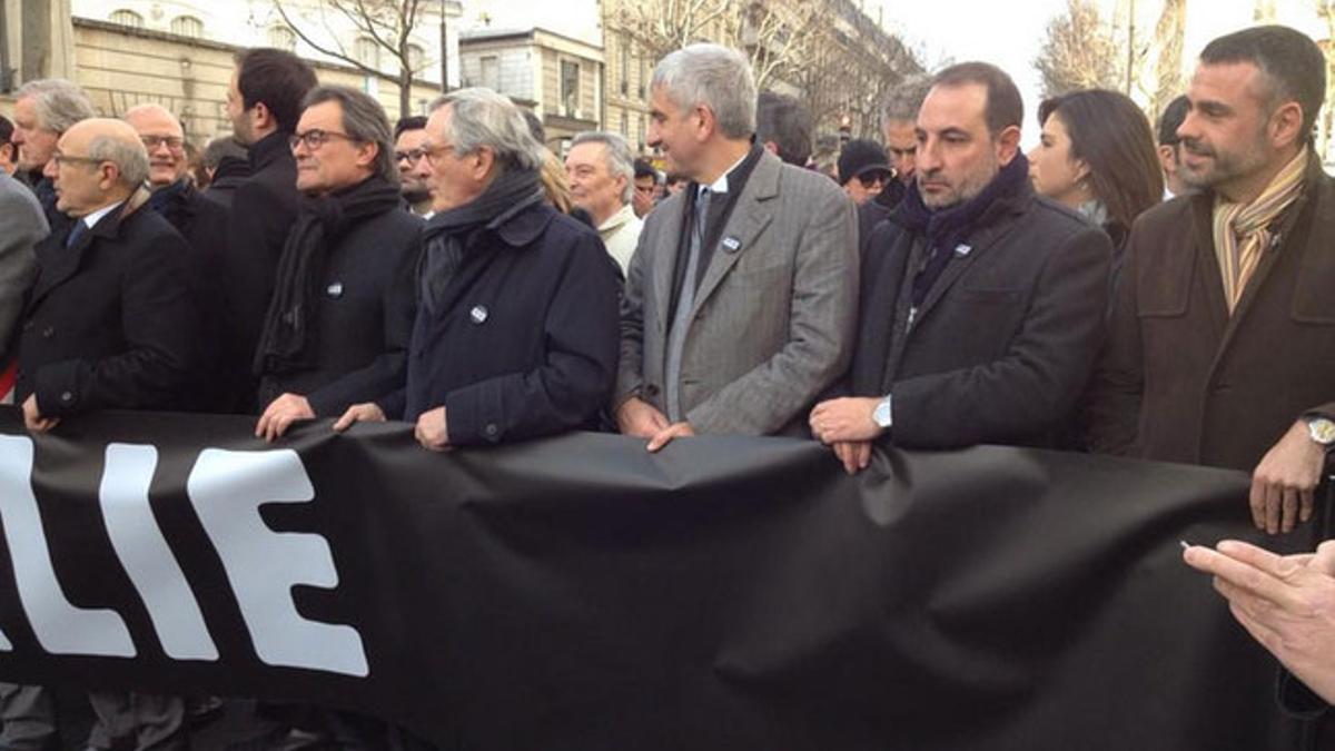
[{"label": "dark gray scarf on the gray-haired man in navy coat", "polygon": [[418,266],[422,306],[437,315],[445,303],[467,238],[482,227],[495,229],[515,214],[542,200],[542,183],[535,170],[501,172],[482,195],[463,206],[431,216],[422,231],[426,249]]}]

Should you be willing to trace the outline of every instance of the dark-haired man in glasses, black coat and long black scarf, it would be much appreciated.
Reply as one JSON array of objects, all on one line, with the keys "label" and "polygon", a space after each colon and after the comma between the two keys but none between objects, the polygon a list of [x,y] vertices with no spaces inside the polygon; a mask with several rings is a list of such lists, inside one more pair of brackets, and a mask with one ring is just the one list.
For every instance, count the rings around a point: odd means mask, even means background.
[{"label": "dark-haired man in glasses, black coat and long black scarf", "polygon": [[304,194],[255,358],[256,436],[338,417],[403,384],[422,219],[403,211],[384,110],[347,87],[306,98],[296,127]]}]

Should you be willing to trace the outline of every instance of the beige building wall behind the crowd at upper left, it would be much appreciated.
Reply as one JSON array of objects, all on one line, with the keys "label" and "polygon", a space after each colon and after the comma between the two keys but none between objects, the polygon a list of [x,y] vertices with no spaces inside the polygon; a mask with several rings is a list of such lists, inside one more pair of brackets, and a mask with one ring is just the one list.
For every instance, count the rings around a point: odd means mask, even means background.
[{"label": "beige building wall behind the crowd at upper left", "polygon": [[[231,132],[227,86],[236,47],[168,33],[75,19],[75,83],[97,111],[120,116],[147,102],[175,112],[196,144]],[[390,122],[399,116],[399,88],[388,78],[368,78],[350,68],[315,63],[320,83],[351,86],[372,94]],[[435,84],[413,86],[413,114],[425,114],[439,96]]]}]

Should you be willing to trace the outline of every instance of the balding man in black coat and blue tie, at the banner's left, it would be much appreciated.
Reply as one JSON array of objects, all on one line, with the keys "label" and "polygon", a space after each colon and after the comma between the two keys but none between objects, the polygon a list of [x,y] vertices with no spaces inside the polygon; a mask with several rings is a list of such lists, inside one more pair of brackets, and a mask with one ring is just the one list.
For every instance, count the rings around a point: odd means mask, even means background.
[{"label": "balding man in black coat and blue tie, at the banner's left", "polygon": [[[144,207],[148,154],[139,134],[120,120],[83,120],[60,136],[44,174],[73,224],[37,247],[17,342],[24,424],[47,432],[100,409],[194,408],[190,249]],[[187,747],[178,698],[89,699],[100,720],[92,748]]]}]

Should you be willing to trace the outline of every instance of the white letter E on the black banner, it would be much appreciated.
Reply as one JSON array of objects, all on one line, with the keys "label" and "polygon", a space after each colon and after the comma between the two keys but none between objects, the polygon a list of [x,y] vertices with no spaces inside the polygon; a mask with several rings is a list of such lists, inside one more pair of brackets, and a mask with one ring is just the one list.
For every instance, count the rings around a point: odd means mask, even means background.
[{"label": "white letter E on the black banner", "polygon": [[356,629],[306,620],[292,603],[294,584],[338,587],[328,543],[319,535],[275,533],[259,516],[262,504],[315,497],[296,452],[204,449],[186,489],[223,559],[259,659],[364,678],[370,668]]}]

